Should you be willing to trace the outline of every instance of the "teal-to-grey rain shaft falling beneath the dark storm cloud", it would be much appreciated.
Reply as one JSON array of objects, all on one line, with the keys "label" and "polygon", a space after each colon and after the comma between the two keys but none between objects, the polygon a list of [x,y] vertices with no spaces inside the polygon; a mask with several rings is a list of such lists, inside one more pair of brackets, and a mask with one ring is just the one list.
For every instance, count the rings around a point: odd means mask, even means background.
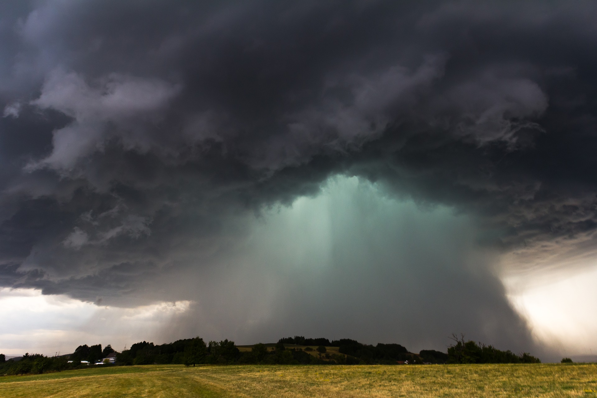
[{"label": "teal-to-grey rain shaft falling beneath the dark storm cloud", "polygon": [[195,312],[166,340],[190,331],[244,343],[304,334],[419,350],[444,349],[452,332],[466,332],[501,347],[533,345],[491,271],[496,252],[478,245],[475,220],[447,206],[337,175],[318,195],[248,219],[246,236],[185,271],[201,281],[182,283]]}]

